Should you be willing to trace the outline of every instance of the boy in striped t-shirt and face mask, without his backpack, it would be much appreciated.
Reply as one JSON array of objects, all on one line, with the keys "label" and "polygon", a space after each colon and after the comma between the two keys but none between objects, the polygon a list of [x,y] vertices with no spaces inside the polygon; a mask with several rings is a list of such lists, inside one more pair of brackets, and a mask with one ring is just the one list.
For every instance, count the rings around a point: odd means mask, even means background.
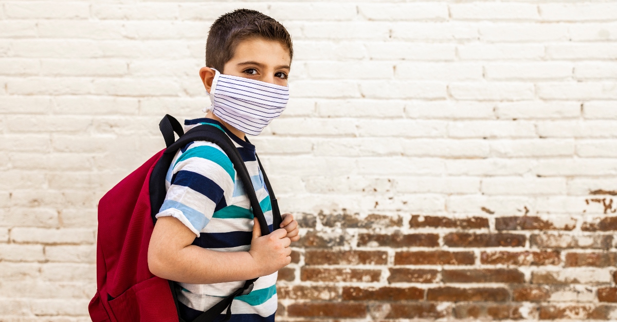
[{"label": "boy in striped t-shirt and face mask, without his backpack", "polygon": [[[180,316],[196,316],[232,294],[247,279],[254,289],[231,305],[231,321],[273,321],[277,271],[291,262],[297,222],[282,215],[280,227],[260,236],[244,189],[254,189],[268,225],[270,197],[245,134],[256,135],[286,104],[292,43],[283,25],[255,10],[222,15],[210,27],[206,65],[199,70],[212,107],[186,130],[206,124],[224,130],[238,148],[253,187],[243,187],[231,160],[211,142],[178,151],[167,173],[167,195],[156,215],[148,249],[154,275],[178,282]],[[197,237],[196,237],[197,236]],[[225,312],[223,312],[225,313]]]}]

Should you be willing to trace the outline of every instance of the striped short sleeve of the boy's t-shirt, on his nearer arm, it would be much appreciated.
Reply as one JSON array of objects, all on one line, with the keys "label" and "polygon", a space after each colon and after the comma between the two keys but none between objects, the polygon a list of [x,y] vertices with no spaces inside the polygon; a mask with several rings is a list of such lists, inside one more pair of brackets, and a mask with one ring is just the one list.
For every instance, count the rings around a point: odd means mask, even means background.
[{"label": "striped short sleeve of the boy's t-shirt, on his nearer arm", "polygon": [[155,217],[175,217],[199,237],[213,213],[231,202],[236,172],[225,152],[210,142],[193,142],[174,162]]}]

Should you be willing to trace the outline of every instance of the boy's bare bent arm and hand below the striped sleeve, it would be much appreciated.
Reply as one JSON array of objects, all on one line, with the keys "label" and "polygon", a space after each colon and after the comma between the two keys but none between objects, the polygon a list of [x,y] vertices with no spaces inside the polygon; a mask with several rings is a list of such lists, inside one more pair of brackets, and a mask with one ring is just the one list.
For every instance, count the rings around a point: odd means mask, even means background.
[{"label": "boy's bare bent arm and hand below the striped sleeve", "polygon": [[160,217],[148,248],[148,266],[160,278],[191,284],[244,281],[270,275],[291,262],[291,240],[285,229],[260,236],[254,220],[251,250],[217,252],[191,245],[195,234],[180,220]]}]

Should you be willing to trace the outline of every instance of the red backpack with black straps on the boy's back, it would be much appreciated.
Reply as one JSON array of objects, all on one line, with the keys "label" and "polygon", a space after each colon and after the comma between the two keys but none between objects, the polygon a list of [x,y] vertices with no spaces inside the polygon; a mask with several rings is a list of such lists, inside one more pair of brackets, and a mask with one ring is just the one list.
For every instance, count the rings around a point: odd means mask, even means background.
[{"label": "red backpack with black straps on the boy's back", "polygon": [[[190,322],[180,318],[178,298],[173,281],[154,276],[148,269],[147,254],[156,218],[164,202],[165,175],[176,152],[189,142],[210,141],[230,157],[239,179],[252,187],[251,178],[238,149],[216,126],[199,125],[184,134],[182,126],[170,115],[159,123],[166,149],[158,152],[141,167],[126,176],[99,201],[98,237],[96,244],[97,291],[88,305],[93,322],[161,321]],[[180,138],[175,141],[173,132]],[[259,157],[257,158],[259,162]],[[270,194],[273,227],[281,223],[276,197],[262,170]],[[262,236],[270,233],[254,189],[245,189]],[[194,322],[211,322],[227,309],[231,317],[231,302],[238,295],[249,294],[255,279],[246,281],[241,289],[221,300]]]}]

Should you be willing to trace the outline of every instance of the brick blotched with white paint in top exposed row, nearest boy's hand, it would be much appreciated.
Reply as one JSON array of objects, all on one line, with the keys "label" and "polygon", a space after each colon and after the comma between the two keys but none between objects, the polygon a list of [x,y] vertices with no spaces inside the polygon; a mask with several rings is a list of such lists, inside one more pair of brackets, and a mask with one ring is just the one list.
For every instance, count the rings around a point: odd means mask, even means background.
[{"label": "brick blotched with white paint in top exposed row, nearest boy's hand", "polygon": [[400,216],[387,215],[368,215],[361,218],[358,214],[350,215],[348,213],[342,215],[326,215],[319,214],[321,225],[326,227],[341,228],[392,228],[403,226],[403,219]]}]

